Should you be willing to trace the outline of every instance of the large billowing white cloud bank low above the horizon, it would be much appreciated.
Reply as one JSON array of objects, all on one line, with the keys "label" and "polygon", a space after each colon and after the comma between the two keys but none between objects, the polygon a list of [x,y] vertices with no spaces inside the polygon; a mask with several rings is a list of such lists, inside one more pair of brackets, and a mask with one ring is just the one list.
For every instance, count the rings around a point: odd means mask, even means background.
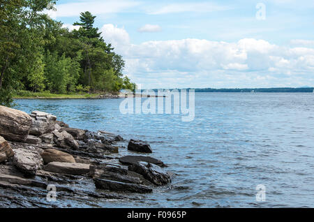
[{"label": "large billowing white cloud bank low above the horizon", "polygon": [[[124,28],[103,26],[103,38],[126,60],[125,73],[143,87],[285,87],[314,85],[314,49],[244,38],[130,43]],[[311,77],[312,76],[312,77]]]}]

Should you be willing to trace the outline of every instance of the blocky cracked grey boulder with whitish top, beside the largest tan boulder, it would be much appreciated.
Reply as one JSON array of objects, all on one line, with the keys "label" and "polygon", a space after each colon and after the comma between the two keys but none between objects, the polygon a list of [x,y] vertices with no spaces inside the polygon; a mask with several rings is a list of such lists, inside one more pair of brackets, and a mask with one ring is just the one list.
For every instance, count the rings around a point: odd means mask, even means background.
[{"label": "blocky cracked grey boulder with whitish top, beside the largest tan boulder", "polygon": [[57,117],[47,112],[33,111],[31,112],[31,135],[43,135],[45,133],[51,133],[54,131],[54,125],[56,124]]}]

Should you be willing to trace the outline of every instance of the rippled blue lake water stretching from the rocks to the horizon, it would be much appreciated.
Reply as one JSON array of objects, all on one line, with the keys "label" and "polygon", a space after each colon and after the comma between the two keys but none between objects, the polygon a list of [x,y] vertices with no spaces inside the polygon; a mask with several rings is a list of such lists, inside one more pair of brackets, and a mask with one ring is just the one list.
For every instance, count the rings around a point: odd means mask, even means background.
[{"label": "rippled blue lake water stretching from the rocks to the horizon", "polygon": [[[141,200],[100,207],[314,207],[314,94],[196,93],[195,119],[121,114],[124,99],[16,100],[71,127],[149,142],[174,173]],[[128,154],[120,149],[120,156]],[[256,186],[266,188],[257,202]]]}]

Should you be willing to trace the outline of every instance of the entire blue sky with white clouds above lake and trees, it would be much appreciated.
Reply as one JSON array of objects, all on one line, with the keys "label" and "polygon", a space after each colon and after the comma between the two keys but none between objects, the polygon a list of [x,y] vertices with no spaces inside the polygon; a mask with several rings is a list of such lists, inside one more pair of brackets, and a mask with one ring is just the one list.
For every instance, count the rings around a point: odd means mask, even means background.
[{"label": "entire blue sky with white clouds above lake and trees", "polygon": [[142,89],[314,87],[314,1],[59,0],[50,17],[80,13],[126,61]]}]

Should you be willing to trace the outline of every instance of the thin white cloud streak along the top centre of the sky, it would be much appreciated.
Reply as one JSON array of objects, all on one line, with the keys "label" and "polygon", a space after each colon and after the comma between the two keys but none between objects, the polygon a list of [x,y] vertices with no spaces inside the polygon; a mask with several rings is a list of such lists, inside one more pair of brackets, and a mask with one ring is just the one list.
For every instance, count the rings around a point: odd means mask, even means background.
[{"label": "thin white cloud streak along the top centre of the sky", "polygon": [[185,12],[195,12],[195,13],[211,13],[220,10],[229,10],[230,6],[220,6],[216,3],[209,2],[198,2],[198,3],[172,3],[166,6],[161,6],[156,8],[151,8],[147,10],[147,13],[151,15],[160,15],[167,13],[185,13]]}]

